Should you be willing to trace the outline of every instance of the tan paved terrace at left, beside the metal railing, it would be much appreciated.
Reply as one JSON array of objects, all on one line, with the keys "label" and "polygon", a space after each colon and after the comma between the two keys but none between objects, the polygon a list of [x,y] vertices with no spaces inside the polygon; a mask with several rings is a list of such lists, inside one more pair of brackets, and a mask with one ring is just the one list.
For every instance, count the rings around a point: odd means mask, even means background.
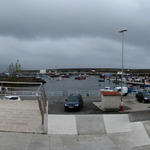
[{"label": "tan paved terrace at left, beside the metal railing", "polygon": [[0,101],[0,131],[43,133],[38,101]]}]

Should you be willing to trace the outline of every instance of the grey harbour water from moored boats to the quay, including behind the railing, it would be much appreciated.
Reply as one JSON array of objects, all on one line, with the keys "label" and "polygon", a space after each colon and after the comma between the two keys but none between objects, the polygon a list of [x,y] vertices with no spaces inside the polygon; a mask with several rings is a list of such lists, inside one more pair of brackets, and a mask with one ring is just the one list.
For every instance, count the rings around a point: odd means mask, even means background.
[{"label": "grey harbour water from moored boats to the quay, including behind the railing", "polygon": [[85,80],[75,80],[75,76],[70,78],[45,77],[46,84],[44,85],[47,96],[68,96],[70,94],[81,94],[83,96],[100,96],[100,89],[110,87],[114,89],[120,84],[115,84],[110,80],[99,82],[99,76],[89,76]]}]

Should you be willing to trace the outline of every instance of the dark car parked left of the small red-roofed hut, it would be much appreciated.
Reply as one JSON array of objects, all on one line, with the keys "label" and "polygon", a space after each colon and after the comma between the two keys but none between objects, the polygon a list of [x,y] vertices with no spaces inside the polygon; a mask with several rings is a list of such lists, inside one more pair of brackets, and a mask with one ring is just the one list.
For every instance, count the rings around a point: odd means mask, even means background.
[{"label": "dark car parked left of the small red-roofed hut", "polygon": [[83,107],[82,96],[79,95],[70,95],[64,104],[65,111],[67,110],[80,110]]}]

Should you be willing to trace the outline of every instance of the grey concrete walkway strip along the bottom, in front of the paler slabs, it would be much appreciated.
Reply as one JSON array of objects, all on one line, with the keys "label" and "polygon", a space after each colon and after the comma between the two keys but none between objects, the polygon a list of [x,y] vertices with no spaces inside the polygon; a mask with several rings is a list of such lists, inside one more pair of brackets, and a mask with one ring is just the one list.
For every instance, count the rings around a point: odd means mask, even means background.
[{"label": "grey concrete walkway strip along the bottom, in front of the paler slabs", "polygon": [[[117,137],[116,137],[117,136]],[[120,135],[39,135],[0,132],[0,150],[149,150],[130,147]],[[120,139],[121,138],[121,139]]]}]

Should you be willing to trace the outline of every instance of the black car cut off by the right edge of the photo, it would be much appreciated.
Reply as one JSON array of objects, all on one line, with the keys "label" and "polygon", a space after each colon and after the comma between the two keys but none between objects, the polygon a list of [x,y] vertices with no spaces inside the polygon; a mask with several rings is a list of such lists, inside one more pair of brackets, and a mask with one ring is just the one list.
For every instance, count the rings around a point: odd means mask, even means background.
[{"label": "black car cut off by the right edge of the photo", "polygon": [[150,102],[150,93],[146,91],[140,91],[136,94],[136,99],[142,103],[149,103]]}]

